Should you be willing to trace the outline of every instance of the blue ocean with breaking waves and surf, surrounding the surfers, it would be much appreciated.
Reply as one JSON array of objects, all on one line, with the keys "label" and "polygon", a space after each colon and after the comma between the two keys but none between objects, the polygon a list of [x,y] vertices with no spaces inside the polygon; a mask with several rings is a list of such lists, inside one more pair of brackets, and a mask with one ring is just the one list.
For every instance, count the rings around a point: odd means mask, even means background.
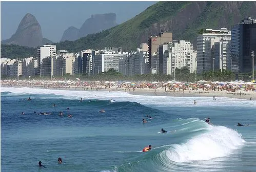
[{"label": "blue ocean with breaking waves and surf, surrounding the surfers", "polygon": [[[1,171],[256,171],[255,105],[221,97],[2,87]],[[204,122],[208,117],[213,125]],[[157,133],[161,128],[168,132]]]}]

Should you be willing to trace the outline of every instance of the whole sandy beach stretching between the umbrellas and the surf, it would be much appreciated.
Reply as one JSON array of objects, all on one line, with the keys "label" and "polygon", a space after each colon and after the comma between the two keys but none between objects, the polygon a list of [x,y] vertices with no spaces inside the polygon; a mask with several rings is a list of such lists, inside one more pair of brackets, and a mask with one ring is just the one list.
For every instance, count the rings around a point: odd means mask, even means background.
[{"label": "whole sandy beach stretching between the umbrellas and the surf", "polygon": [[132,87],[118,87],[116,85],[104,85],[104,84],[88,84],[88,85],[42,85],[33,84],[33,82],[23,82],[9,83],[7,81],[1,81],[1,87],[28,87],[28,88],[41,88],[41,89],[51,89],[51,90],[76,90],[76,91],[107,91],[116,92],[122,91],[134,95],[149,95],[149,96],[171,96],[171,97],[228,97],[228,98],[238,98],[253,100],[256,98],[255,90],[246,90],[245,88],[240,88],[234,90],[234,92],[228,92],[226,90],[206,90],[204,88],[197,88],[195,90],[189,89],[165,89],[164,87],[159,88],[132,88]]}]

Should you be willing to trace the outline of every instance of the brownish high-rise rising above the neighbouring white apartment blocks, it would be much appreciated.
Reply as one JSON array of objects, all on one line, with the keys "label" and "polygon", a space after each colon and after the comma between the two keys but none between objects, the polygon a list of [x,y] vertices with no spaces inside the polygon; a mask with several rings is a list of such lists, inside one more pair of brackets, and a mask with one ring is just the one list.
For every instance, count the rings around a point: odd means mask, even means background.
[{"label": "brownish high-rise rising above the neighbouring white apartment blocks", "polygon": [[156,62],[152,58],[156,54],[157,49],[164,43],[172,42],[172,33],[161,32],[158,36],[150,36],[148,40],[149,67],[156,68]]}]

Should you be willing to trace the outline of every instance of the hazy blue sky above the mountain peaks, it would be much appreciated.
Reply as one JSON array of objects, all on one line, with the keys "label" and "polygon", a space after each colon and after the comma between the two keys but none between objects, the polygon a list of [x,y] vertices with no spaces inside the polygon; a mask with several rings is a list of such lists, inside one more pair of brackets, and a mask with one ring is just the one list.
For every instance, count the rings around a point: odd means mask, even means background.
[{"label": "hazy blue sky above the mountain peaks", "polygon": [[116,14],[116,23],[121,24],[155,3],[153,1],[1,1],[1,40],[10,38],[16,32],[27,13],[35,16],[41,25],[43,37],[59,42],[68,27],[74,26],[80,29],[92,14],[113,12]]}]

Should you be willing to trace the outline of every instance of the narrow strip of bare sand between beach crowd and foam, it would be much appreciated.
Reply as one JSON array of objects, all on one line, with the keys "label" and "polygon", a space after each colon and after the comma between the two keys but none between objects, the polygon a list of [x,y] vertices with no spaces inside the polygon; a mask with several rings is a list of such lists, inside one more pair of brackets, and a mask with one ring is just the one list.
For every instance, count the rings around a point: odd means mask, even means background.
[{"label": "narrow strip of bare sand between beach crowd and foam", "polygon": [[[237,99],[244,99],[244,100],[250,100],[250,97],[252,100],[256,97],[256,92],[245,90],[240,90],[237,92],[228,93],[226,90],[223,91],[204,91],[203,89],[198,90],[180,90],[180,91],[165,91],[163,88],[157,88],[157,89],[149,89],[149,88],[143,88],[143,89],[125,89],[125,88],[106,88],[106,89],[97,89],[97,88],[89,88],[89,87],[44,87],[44,86],[31,86],[31,85],[5,85],[2,84],[1,87],[14,87],[14,88],[34,88],[34,89],[50,89],[50,90],[69,90],[69,91],[106,91],[106,92],[117,92],[117,91],[123,91],[127,92],[133,95],[143,95],[143,96],[170,96],[170,97],[227,97],[227,98],[237,98]],[[240,95],[241,92],[241,95]]]}]

